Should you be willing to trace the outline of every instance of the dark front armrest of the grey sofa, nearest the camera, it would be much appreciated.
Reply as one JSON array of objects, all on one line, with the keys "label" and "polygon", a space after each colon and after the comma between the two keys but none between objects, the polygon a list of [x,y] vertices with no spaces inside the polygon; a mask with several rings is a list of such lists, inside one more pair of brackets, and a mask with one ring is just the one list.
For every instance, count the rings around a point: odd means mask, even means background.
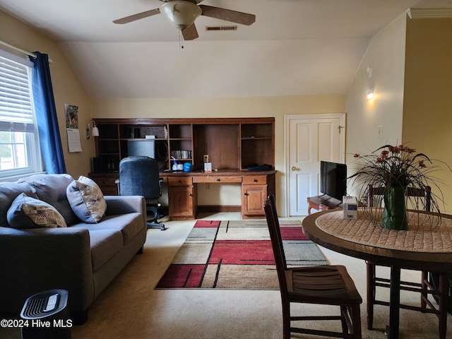
[{"label": "dark front armrest of the grey sofa, nearest the camera", "polygon": [[71,309],[94,299],[90,234],[82,227],[0,227],[0,312],[17,312],[37,292],[69,290]]}]

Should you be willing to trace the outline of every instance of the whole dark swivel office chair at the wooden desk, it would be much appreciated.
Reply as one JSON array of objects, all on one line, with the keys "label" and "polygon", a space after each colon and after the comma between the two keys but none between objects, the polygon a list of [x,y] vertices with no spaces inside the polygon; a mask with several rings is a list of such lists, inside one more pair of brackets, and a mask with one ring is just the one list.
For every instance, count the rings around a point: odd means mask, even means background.
[{"label": "whole dark swivel office chair at the wooden desk", "polygon": [[152,157],[124,157],[119,162],[118,191],[120,196],[144,196],[148,212],[148,228],[165,225],[158,222],[158,198],[162,196],[162,178],[159,175],[157,160]]}]

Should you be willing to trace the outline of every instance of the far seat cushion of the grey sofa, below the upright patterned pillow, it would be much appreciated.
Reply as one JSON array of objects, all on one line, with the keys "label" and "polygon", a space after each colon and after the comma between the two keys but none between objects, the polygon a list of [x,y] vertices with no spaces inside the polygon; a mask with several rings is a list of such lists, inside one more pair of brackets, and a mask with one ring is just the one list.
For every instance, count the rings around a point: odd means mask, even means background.
[{"label": "far seat cushion of the grey sofa, below the upright patterned pillow", "polygon": [[107,215],[97,224],[78,223],[73,227],[83,227],[93,230],[117,230],[123,237],[123,243],[127,244],[143,229],[143,215],[141,213],[126,213],[121,215]]}]

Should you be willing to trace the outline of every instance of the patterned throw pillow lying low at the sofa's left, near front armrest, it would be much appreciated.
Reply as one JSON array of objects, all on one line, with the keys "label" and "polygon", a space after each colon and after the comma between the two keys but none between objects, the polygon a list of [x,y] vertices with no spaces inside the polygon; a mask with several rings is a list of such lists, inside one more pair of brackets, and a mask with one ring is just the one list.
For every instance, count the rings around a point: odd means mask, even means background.
[{"label": "patterned throw pillow lying low at the sofa's left, near front armrest", "polygon": [[13,228],[66,227],[63,216],[49,203],[19,194],[6,213]]}]

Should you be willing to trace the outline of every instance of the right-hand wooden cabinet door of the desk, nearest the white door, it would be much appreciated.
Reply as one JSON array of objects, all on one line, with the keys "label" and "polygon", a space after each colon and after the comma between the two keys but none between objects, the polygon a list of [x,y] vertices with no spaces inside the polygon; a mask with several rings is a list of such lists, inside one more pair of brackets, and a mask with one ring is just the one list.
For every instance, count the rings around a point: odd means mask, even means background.
[{"label": "right-hand wooden cabinet door of the desk, nearest the white door", "polygon": [[267,199],[267,185],[242,185],[243,218],[259,218],[265,215],[263,204]]}]

